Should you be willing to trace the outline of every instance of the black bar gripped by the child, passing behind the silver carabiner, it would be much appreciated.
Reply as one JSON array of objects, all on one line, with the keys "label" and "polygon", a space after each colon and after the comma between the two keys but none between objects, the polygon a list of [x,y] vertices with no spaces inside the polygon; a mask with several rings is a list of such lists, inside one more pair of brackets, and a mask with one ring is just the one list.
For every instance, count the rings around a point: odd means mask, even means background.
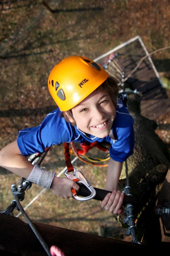
[{"label": "black bar gripped by the child, passing behind the silver carabiner", "polygon": [[[90,191],[84,185],[78,185],[80,186],[79,191],[77,191],[78,196],[87,197],[91,194]],[[94,189],[96,190],[96,196],[93,199],[100,201],[102,201],[108,193],[112,193],[111,191],[107,191],[96,187],[94,187]],[[139,205],[141,202],[139,200],[135,200],[132,196],[124,195],[123,205],[126,205],[128,203],[132,205]]]}]

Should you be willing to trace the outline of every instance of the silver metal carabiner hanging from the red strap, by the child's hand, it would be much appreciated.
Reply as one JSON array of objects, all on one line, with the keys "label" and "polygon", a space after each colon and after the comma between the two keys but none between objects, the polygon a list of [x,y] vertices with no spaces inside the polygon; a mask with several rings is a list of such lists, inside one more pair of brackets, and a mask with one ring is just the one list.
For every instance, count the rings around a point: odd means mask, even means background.
[{"label": "silver metal carabiner hanging from the red strap, by the child's hand", "polygon": [[90,195],[87,197],[79,197],[77,194],[73,193],[73,197],[79,201],[87,201],[90,200],[92,198],[94,198],[96,196],[96,190],[94,189],[94,187],[91,186],[90,182],[85,178],[85,176],[83,175],[83,173],[81,171],[77,171],[74,168],[74,172],[72,174],[68,173],[68,170],[66,170],[64,172],[64,174],[66,175],[66,177],[70,180],[77,180],[78,184],[83,184],[89,191],[90,191]]}]

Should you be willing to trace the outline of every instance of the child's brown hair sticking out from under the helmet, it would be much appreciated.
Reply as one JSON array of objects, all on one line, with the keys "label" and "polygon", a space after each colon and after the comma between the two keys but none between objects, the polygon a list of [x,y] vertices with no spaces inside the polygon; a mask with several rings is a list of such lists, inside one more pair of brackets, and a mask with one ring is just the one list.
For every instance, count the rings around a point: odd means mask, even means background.
[{"label": "child's brown hair sticking out from under the helmet", "polygon": [[[113,76],[109,76],[96,90],[98,90],[98,89],[104,90],[110,95],[112,102],[116,108],[117,107],[118,91],[119,91],[117,79]],[[64,117],[65,120],[67,122],[71,123],[72,126],[76,125],[75,120],[74,120],[74,122],[70,122],[70,120],[69,120],[69,117],[71,117],[73,119],[73,116],[71,115],[70,110],[62,112],[61,117]]]}]

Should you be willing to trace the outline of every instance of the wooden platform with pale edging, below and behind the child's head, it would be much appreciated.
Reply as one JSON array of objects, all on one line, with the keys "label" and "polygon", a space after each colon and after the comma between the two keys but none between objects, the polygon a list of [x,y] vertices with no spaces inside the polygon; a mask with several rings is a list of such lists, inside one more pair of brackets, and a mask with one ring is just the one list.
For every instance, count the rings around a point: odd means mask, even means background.
[{"label": "wooden platform with pale edging, below and behind the child's head", "polygon": [[[118,53],[119,61],[125,68],[125,77],[132,72],[142,57],[147,56],[127,82],[133,89],[142,93],[141,115],[156,120],[160,115],[169,112],[170,101],[166,90],[140,36],[138,35],[118,45],[111,51],[94,59],[94,61],[103,66],[113,53]],[[109,74],[112,74],[113,68],[108,65]]]}]

